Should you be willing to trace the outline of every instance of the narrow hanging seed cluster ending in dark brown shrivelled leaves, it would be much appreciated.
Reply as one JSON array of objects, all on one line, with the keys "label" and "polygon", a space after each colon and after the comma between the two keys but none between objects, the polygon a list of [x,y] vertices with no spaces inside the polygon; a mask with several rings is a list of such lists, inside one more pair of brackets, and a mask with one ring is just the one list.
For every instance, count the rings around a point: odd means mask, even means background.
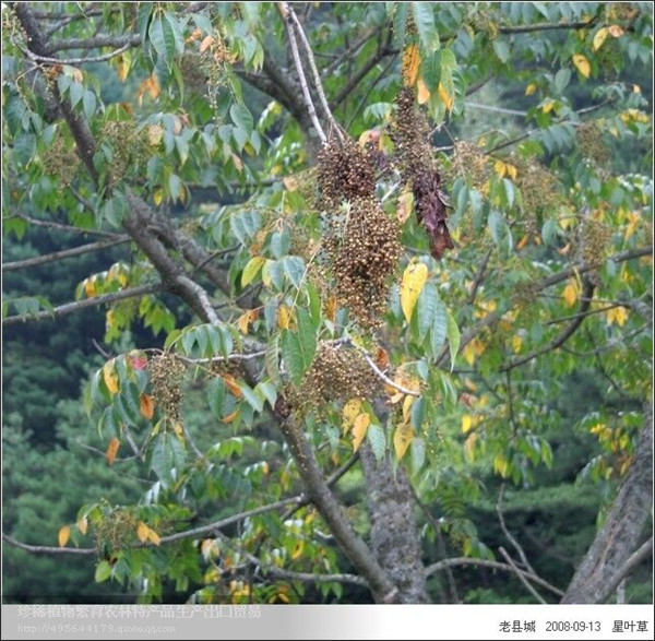
[{"label": "narrow hanging seed cluster ending in dark brown shrivelled leaves", "polygon": [[416,218],[428,233],[431,254],[440,260],[454,245],[446,225],[445,194],[432,157],[428,122],[416,108],[413,87],[405,86],[400,91],[396,106],[392,138],[398,168],[403,180],[412,186]]}]

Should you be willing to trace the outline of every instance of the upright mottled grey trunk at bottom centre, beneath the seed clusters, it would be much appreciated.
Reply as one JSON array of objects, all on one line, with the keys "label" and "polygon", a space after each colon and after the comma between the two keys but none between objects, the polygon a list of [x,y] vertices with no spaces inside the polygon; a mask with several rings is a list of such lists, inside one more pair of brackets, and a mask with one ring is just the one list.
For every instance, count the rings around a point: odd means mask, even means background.
[{"label": "upright mottled grey trunk at bottom centre, beneath the seed clusters", "polygon": [[429,603],[413,496],[405,470],[389,455],[376,461],[368,443],[360,450],[371,519],[371,547],[398,590],[397,603]]}]

